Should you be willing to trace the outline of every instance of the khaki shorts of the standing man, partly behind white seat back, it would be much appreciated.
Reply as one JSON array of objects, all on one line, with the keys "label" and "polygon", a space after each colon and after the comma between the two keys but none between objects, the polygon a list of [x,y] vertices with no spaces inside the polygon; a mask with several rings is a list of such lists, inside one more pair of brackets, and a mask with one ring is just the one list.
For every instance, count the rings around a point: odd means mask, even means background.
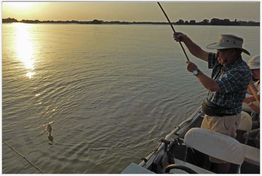
[{"label": "khaki shorts of the standing man, partly behind white seat back", "polygon": [[[237,128],[241,119],[241,113],[234,116],[207,116],[205,115],[201,128],[209,129],[221,134],[235,138]],[[209,160],[214,163],[227,163],[221,159],[209,156]]]}]

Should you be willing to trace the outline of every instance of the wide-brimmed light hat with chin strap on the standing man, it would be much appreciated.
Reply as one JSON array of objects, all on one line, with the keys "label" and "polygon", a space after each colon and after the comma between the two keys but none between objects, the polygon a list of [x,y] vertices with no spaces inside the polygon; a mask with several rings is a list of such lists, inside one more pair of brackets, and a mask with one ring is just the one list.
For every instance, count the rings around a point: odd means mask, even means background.
[{"label": "wide-brimmed light hat with chin strap on the standing man", "polygon": [[207,45],[207,49],[229,49],[229,48],[239,48],[247,55],[250,53],[242,48],[243,39],[241,37],[235,36],[233,34],[222,34],[217,43]]}]

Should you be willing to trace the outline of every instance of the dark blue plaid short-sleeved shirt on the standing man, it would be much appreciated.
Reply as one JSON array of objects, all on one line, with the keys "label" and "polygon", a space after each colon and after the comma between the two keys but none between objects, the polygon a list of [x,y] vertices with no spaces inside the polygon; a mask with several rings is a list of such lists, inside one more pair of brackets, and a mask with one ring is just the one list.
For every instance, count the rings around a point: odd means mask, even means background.
[{"label": "dark blue plaid short-sleeved shirt on the standing man", "polygon": [[221,113],[240,113],[251,80],[251,70],[247,63],[240,56],[234,63],[224,68],[218,63],[215,53],[210,52],[208,68],[213,68],[211,78],[220,88],[219,91],[209,92],[208,100],[217,105],[231,108]]}]

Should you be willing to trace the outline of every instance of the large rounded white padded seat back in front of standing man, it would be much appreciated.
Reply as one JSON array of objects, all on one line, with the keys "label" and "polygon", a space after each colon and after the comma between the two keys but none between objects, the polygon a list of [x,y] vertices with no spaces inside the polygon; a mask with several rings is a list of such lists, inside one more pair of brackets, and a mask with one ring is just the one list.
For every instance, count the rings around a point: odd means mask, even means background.
[{"label": "large rounded white padded seat back in front of standing man", "polygon": [[233,164],[242,164],[245,152],[234,138],[204,128],[191,128],[184,143],[202,153]]}]

